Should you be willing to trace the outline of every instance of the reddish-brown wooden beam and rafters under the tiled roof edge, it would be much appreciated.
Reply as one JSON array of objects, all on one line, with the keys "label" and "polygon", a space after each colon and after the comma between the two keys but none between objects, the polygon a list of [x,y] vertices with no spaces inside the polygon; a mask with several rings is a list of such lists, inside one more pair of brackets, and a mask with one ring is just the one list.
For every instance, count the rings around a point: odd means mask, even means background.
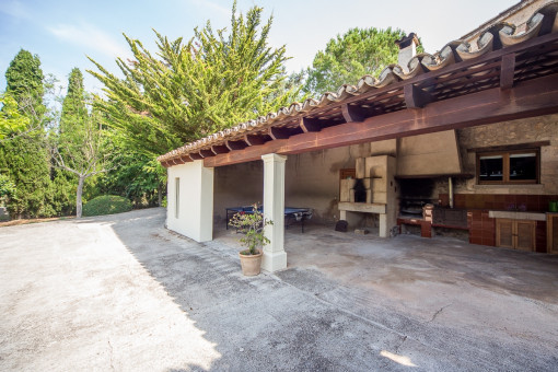
[{"label": "reddish-brown wooden beam and rafters under the tiled roof edge", "polygon": [[202,159],[205,166],[222,166],[259,160],[266,153],[294,154],[557,112],[558,33],[550,33],[286,115],[268,126],[162,159],[162,164],[171,166],[175,158],[186,155]]}]

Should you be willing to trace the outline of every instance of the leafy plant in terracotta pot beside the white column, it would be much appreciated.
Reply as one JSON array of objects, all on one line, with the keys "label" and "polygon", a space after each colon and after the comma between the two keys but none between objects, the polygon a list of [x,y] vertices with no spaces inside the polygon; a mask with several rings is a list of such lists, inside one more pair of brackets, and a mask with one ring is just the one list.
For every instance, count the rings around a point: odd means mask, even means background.
[{"label": "leafy plant in terracotta pot beside the white column", "polygon": [[272,221],[264,218],[264,213],[257,204],[252,206],[252,211],[239,212],[229,222],[230,225],[244,234],[240,241],[247,249],[241,251],[239,256],[241,257],[242,274],[245,276],[259,274],[263,255],[261,246],[269,243],[269,240],[264,235],[264,228],[272,223]]}]

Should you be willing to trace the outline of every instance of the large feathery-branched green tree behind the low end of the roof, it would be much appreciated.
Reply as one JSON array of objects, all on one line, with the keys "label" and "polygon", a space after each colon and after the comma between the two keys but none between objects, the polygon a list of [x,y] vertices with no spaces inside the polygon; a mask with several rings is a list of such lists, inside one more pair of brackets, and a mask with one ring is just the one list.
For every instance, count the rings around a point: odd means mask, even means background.
[{"label": "large feathery-branched green tree behind the low end of the roof", "polygon": [[91,59],[101,72],[89,72],[108,98],[100,107],[120,140],[155,156],[289,104],[298,90],[277,93],[286,50],[268,46],[272,19],[261,24],[261,12],[254,7],[237,15],[234,2],[229,33],[208,22],[186,43],[155,32],[156,55],[125,35],[133,60],[117,59],[124,79]]}]

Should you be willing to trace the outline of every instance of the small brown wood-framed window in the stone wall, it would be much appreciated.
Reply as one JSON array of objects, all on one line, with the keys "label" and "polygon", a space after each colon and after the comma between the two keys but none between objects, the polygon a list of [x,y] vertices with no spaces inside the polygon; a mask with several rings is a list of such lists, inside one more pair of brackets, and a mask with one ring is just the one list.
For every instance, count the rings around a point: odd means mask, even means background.
[{"label": "small brown wood-framed window in the stone wall", "polygon": [[537,184],[539,150],[477,153],[477,181],[480,185]]}]

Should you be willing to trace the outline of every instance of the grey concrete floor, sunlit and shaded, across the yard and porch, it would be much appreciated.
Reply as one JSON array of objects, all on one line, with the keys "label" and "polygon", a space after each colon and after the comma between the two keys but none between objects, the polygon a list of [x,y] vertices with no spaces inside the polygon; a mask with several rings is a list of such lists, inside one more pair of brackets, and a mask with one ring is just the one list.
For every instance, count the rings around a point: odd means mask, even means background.
[{"label": "grey concrete floor, sunlit and shaded, across the yard and porch", "polygon": [[0,229],[0,370],[558,370],[558,256],[311,225],[246,278],[163,222]]}]

